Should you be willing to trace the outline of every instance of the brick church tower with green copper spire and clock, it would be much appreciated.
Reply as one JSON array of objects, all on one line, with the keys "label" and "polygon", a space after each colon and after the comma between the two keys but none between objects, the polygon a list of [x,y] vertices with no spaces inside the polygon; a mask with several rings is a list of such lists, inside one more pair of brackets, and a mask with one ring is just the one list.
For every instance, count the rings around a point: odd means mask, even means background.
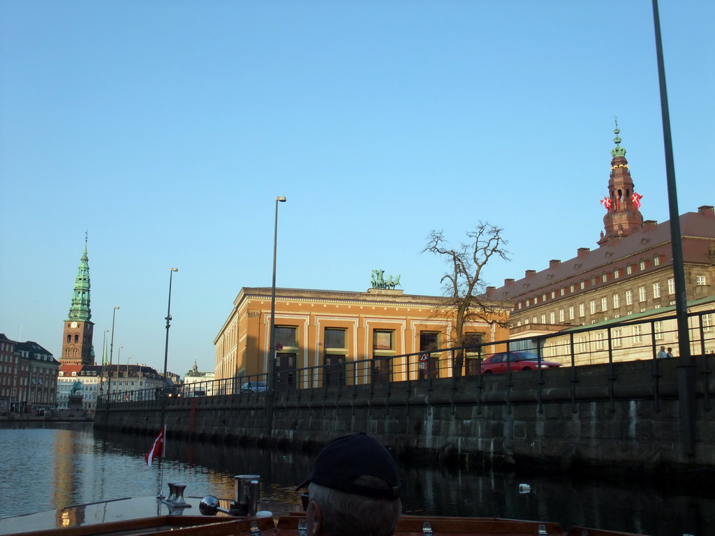
[{"label": "brick church tower with green copper spire and clock", "polygon": [[74,280],[74,293],[69,307],[69,317],[64,321],[61,364],[92,365],[94,351],[92,334],[94,322],[90,322],[89,310],[89,262],[87,259],[87,237],[84,237],[84,252],[79,261],[79,272]]}]

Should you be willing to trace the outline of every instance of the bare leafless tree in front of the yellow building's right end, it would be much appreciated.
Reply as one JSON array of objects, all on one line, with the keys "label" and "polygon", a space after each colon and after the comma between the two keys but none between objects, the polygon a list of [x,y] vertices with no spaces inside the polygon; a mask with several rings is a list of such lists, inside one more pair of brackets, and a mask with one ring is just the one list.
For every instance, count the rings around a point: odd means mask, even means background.
[{"label": "bare leafless tree in front of the yellow building's right end", "polygon": [[[483,320],[490,324],[506,326],[502,307],[486,297],[486,284],[482,279],[482,269],[492,259],[501,257],[509,260],[507,244],[502,237],[503,229],[488,222],[479,222],[473,231],[467,232],[468,242],[457,249],[450,246],[443,231],[432,231],[428,235],[424,252],[443,257],[449,269],[441,279],[444,287],[446,309],[455,316],[454,347],[465,346],[464,325],[473,320]],[[462,374],[464,350],[455,355],[455,376]]]}]

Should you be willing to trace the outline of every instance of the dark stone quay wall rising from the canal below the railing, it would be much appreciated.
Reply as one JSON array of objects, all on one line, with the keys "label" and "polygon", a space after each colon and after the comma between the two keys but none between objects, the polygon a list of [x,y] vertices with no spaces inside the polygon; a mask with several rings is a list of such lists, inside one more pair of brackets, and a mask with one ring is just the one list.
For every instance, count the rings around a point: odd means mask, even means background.
[{"label": "dark stone quay wall rising from the canal below the railing", "polygon": [[[694,357],[684,411],[679,359],[169,399],[167,435],[315,450],[368,432],[400,457],[493,465],[613,464],[646,472],[715,465],[715,355]],[[686,396],[687,398],[687,396]],[[272,410],[270,406],[272,405]],[[155,435],[161,402],[99,407],[95,428]],[[681,415],[691,415],[691,447]],[[685,433],[687,437],[688,433]]]}]

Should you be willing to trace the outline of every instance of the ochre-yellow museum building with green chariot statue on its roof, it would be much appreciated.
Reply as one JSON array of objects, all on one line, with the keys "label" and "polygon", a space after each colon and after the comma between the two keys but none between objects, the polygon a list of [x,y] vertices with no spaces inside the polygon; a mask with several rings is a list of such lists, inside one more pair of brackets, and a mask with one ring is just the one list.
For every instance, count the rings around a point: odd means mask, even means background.
[{"label": "ochre-yellow museum building with green chariot statue on its roof", "polygon": [[[497,304],[493,314],[465,322],[467,344],[508,339],[503,325],[511,306]],[[270,311],[270,287],[241,289],[214,340],[216,379],[257,379],[267,372]],[[453,344],[455,323],[445,298],[404,294],[401,289],[276,289],[276,381],[315,387],[449,376],[453,352],[435,350]],[[480,351],[495,352],[495,346],[488,344]],[[467,367],[471,354],[466,354]],[[314,373],[287,372],[306,367],[317,368]]]}]

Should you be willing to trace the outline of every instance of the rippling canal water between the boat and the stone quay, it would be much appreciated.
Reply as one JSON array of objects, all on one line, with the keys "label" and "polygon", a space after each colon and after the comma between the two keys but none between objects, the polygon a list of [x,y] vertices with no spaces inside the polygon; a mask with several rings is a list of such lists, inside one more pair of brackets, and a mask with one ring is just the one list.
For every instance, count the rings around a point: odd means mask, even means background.
[{"label": "rippling canal water between the boat and the stone quay", "polygon": [[[234,475],[262,477],[267,500],[300,502],[295,485],[314,457],[251,447],[172,441],[159,465],[144,454],[153,438],[94,432],[91,423],[0,423],[0,517],[85,502],[154,496],[160,484],[187,484],[186,495],[233,496]],[[715,493],[655,489],[633,482],[574,482],[568,477],[401,465],[408,514],[508,517],[652,536],[715,534]],[[531,491],[522,493],[520,484]]]}]

